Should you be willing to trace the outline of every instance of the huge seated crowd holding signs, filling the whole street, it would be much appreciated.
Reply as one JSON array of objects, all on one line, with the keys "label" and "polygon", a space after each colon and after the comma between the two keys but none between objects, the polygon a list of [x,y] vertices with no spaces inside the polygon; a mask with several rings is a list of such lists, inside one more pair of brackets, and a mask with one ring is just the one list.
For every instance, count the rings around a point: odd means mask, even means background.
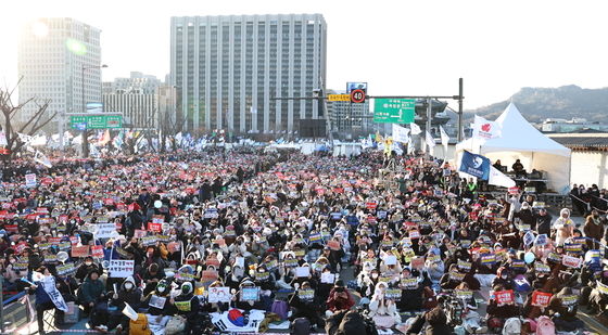
[{"label": "huge seated crowd holding signs, filling the whole street", "polygon": [[393,159],[391,173],[373,151],[15,162],[4,287],[35,296],[41,334],[51,310],[60,327],[81,310],[100,332],[167,335],[577,331],[579,306],[605,312],[604,215],[578,227],[447,163]]}]

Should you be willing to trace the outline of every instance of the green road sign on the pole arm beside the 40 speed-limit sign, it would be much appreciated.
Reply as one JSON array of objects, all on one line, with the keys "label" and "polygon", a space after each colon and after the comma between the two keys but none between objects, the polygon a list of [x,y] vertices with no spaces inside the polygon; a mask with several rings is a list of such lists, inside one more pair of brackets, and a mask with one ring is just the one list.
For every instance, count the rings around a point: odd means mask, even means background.
[{"label": "green road sign on the pole arm beside the 40 speed-limit sign", "polygon": [[373,121],[411,124],[416,114],[416,99],[373,99]]}]

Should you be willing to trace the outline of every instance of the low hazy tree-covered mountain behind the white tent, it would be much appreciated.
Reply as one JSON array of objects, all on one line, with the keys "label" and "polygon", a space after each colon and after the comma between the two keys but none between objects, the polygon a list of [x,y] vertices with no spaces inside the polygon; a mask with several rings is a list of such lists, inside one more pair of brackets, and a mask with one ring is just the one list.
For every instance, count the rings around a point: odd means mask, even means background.
[{"label": "low hazy tree-covered mountain behind the white tent", "polygon": [[532,123],[546,118],[573,117],[586,118],[587,121],[606,123],[608,114],[608,88],[582,89],[578,86],[559,88],[522,88],[507,101],[498,102],[477,109],[465,111],[466,117],[472,114],[495,119],[512,101],[521,114]]}]

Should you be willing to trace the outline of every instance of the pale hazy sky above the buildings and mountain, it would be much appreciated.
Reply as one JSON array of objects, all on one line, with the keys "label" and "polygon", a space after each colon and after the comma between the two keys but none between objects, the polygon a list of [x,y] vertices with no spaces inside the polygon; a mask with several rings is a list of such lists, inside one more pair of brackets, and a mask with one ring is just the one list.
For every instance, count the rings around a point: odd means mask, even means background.
[{"label": "pale hazy sky above the buildings and mountain", "polygon": [[[0,83],[17,77],[18,29],[29,18],[74,17],[102,29],[103,80],[169,72],[169,17],[321,13],[328,88],[368,81],[369,94],[457,94],[465,107],[521,87],[608,86],[608,1],[2,1]],[[455,106],[455,105],[453,105]]]}]

